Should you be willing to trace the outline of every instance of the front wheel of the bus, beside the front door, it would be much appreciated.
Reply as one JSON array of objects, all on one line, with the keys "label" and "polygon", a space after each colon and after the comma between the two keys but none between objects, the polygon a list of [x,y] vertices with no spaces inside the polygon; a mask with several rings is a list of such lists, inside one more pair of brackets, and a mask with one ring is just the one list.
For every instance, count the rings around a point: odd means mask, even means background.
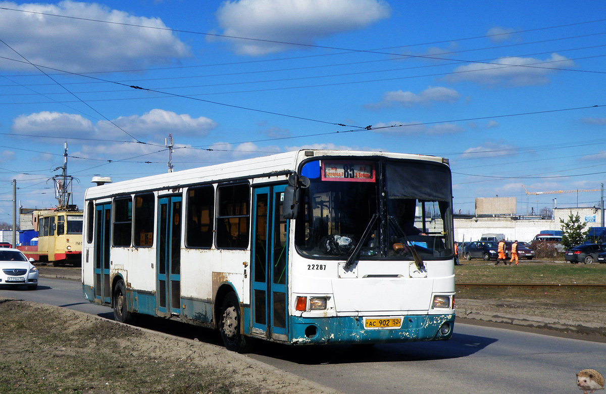
[{"label": "front wheel of the bus, beside the front door", "polygon": [[240,332],[242,324],[240,306],[236,293],[225,295],[219,319],[219,331],[225,349],[232,352],[248,353],[253,347],[252,338],[247,338]]}]

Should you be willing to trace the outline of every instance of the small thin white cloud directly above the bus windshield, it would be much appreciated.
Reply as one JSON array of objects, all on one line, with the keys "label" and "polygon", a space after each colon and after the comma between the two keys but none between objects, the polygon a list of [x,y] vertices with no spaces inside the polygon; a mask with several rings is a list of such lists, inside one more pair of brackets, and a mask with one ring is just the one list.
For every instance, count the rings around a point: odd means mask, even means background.
[{"label": "small thin white cloud directly above the bus windshield", "polygon": [[402,90],[385,92],[383,93],[382,101],[368,104],[367,107],[370,109],[391,107],[393,105],[415,107],[417,105],[431,105],[434,102],[456,102],[459,98],[461,98],[461,95],[454,89],[442,86],[430,86],[419,94],[402,92]]}]

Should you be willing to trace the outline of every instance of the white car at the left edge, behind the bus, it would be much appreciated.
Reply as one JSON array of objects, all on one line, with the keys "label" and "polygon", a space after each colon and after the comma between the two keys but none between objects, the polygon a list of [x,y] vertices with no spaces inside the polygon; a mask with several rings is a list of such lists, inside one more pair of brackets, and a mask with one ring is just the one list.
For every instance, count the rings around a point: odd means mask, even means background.
[{"label": "white car at the left edge, behind the bus", "polygon": [[34,259],[18,249],[0,249],[0,285],[27,286],[29,290],[38,287],[38,269],[32,265]]}]

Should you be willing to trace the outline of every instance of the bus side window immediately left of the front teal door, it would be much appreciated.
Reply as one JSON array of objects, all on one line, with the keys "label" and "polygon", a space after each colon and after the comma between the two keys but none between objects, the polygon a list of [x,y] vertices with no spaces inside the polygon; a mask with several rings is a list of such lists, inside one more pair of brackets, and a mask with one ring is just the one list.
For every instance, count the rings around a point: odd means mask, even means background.
[{"label": "bus side window immediately left of the front teal door", "polygon": [[217,247],[246,249],[250,225],[250,185],[219,186],[217,201]]}]

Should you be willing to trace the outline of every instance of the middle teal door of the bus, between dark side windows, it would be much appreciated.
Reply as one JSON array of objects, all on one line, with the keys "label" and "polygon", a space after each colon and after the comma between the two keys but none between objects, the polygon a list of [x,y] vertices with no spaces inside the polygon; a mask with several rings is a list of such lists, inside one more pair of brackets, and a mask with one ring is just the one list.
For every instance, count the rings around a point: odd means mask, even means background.
[{"label": "middle teal door of the bus, between dark side windows", "polygon": [[158,215],[158,314],[181,314],[181,196],[161,198]]}]

